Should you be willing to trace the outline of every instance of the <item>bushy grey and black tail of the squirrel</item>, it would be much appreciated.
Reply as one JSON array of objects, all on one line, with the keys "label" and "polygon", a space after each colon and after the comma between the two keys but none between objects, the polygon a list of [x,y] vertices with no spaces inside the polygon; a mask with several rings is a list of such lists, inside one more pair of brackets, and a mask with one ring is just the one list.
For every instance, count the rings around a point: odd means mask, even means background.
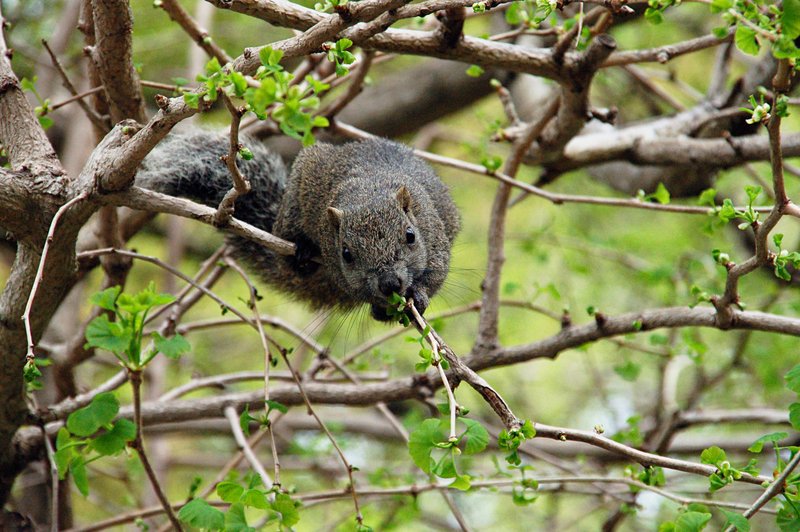
[{"label": "bushy grey and black tail of the squirrel", "polygon": [[[253,153],[251,160],[237,160],[251,191],[236,200],[234,216],[271,231],[286,186],[286,167],[257,140],[242,137],[241,142]],[[142,161],[136,185],[216,207],[233,186],[220,159],[228,149],[228,137],[219,133],[171,133]]]}]

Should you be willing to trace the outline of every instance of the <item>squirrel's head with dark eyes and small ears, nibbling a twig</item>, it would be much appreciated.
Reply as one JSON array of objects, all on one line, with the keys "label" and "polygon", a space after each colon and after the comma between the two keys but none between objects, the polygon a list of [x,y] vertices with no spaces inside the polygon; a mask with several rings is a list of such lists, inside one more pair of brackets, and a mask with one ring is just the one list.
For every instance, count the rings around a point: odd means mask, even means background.
[{"label": "squirrel's head with dark eyes and small ears, nibbling a twig", "polygon": [[373,316],[388,319],[387,298],[393,292],[408,295],[427,262],[408,189],[401,186],[385,198],[343,210],[329,207],[328,220],[336,235],[342,287],[371,303]]}]

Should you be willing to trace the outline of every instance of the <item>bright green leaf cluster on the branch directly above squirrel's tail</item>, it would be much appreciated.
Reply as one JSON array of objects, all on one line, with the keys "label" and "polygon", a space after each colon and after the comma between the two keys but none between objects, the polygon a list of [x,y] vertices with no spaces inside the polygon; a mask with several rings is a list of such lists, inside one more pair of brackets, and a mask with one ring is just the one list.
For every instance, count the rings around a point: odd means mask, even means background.
[{"label": "bright green leaf cluster on the branch directly above squirrel's tail", "polygon": [[311,76],[306,76],[306,85],[292,84],[294,76],[286,72],[280,64],[283,52],[266,46],[259,50],[261,66],[252,78],[222,66],[216,58],[211,59],[205,73],[197,76],[203,83],[202,89],[184,93],[186,104],[197,109],[201,101],[210,104],[217,100],[220,92],[230,97],[240,98],[245,108],[259,120],[271,118],[281,131],[303,142],[304,146],[314,143],[312,131],[317,127],[327,127],[328,119],[314,116],[319,108],[319,94],[330,86]]}]

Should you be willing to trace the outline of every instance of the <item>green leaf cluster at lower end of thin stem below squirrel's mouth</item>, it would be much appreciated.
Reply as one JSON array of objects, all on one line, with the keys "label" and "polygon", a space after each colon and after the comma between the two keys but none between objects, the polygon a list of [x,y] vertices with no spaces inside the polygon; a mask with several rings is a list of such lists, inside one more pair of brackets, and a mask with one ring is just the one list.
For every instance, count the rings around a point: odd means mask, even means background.
[{"label": "green leaf cluster at lower end of thin stem below squirrel's mouth", "polygon": [[462,455],[483,451],[489,443],[489,433],[474,419],[460,417],[466,429],[454,438],[448,438],[446,419],[426,419],[411,433],[408,452],[414,463],[424,472],[439,478],[452,478],[449,487],[468,490],[472,477],[465,471]]}]

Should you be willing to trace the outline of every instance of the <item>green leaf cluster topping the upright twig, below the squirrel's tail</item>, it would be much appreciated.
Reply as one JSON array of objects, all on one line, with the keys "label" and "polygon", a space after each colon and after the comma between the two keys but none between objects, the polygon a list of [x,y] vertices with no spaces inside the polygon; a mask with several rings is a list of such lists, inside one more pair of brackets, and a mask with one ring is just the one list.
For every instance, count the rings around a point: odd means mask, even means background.
[{"label": "green leaf cluster topping the upright twig, below the squirrel's tail", "polygon": [[171,294],[157,294],[154,283],[138,294],[122,293],[119,286],[107,288],[91,297],[91,302],[108,310],[114,316],[102,314],[86,327],[86,347],[99,347],[114,354],[123,366],[131,370],[141,370],[158,353],[177,358],[191,349],[180,334],[165,338],[158,332],[150,335],[152,344],[144,352],[142,341],[144,324],[148,312],[156,306],[175,301]]}]

